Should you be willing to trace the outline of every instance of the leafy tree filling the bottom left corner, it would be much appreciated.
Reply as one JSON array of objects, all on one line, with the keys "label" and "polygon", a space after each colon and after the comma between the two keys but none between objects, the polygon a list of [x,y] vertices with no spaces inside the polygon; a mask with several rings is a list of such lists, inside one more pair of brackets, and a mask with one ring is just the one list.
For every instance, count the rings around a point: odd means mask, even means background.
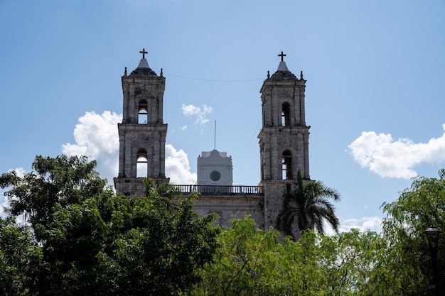
[{"label": "leafy tree filling the bottom left corner", "polygon": [[36,295],[41,247],[33,243],[31,229],[14,220],[0,217],[0,295]]}]

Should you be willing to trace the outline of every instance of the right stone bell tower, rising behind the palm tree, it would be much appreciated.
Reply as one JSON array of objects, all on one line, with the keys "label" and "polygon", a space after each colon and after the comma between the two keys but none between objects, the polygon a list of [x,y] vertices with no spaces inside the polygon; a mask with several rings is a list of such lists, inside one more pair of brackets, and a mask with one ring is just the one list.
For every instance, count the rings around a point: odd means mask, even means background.
[{"label": "right stone bell tower, rising behind the palm tree", "polygon": [[306,80],[298,79],[282,58],[272,76],[267,73],[260,90],[262,129],[259,132],[261,182],[266,229],[274,226],[286,183],[295,184],[298,170],[309,180],[309,128],[305,121]]}]

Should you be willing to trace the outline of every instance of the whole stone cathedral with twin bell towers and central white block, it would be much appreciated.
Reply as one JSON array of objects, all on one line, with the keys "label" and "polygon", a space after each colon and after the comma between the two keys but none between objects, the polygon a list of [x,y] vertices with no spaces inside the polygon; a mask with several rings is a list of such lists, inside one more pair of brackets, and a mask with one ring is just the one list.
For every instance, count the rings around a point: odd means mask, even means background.
[{"label": "whole stone cathedral with twin bell towers and central white block", "polygon": [[[123,119],[119,130],[119,175],[117,192],[144,195],[144,177],[157,185],[169,182],[165,174],[167,124],[163,122],[165,80],[150,69],[145,58],[129,75],[122,76]],[[176,185],[182,195],[199,192],[195,211],[215,212],[218,224],[228,226],[234,218],[250,215],[261,229],[274,226],[282,207],[286,184],[296,184],[298,170],[309,177],[309,128],[305,121],[306,80],[296,77],[284,62],[264,80],[260,89],[262,128],[259,131],[261,171],[258,185],[232,184],[232,158],[218,150],[203,151],[198,157],[198,180],[194,185]],[[259,102],[258,102],[259,104]]]}]

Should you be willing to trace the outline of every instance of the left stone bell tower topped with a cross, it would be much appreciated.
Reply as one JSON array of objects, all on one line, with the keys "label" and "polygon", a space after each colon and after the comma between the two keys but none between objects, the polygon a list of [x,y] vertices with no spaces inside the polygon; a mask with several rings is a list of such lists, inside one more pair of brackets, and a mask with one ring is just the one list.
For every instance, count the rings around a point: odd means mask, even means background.
[{"label": "left stone bell tower topped with a cross", "polygon": [[150,69],[143,49],[138,67],[122,76],[124,110],[119,130],[119,175],[117,192],[144,195],[144,177],[156,184],[168,182],[165,174],[167,124],[163,123],[165,77]]}]

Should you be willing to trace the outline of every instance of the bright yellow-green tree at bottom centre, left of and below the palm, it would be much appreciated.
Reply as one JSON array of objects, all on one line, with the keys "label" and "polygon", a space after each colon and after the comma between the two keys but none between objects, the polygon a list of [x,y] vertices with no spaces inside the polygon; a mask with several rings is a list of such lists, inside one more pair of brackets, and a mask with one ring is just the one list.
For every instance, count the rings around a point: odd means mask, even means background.
[{"label": "bright yellow-green tree at bottom centre, left of and below the palm", "polygon": [[215,263],[206,265],[193,295],[286,295],[302,285],[296,265],[282,260],[301,252],[289,240],[279,244],[278,231],[261,231],[252,219],[235,219],[218,239]]}]

